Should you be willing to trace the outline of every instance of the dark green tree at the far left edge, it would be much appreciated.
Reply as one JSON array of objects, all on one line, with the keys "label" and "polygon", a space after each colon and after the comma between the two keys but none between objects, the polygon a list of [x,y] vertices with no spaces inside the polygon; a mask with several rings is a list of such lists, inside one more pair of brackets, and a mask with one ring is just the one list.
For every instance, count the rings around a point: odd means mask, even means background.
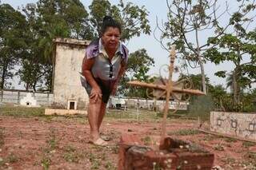
[{"label": "dark green tree at the far left edge", "polygon": [[26,48],[23,29],[26,29],[26,19],[22,14],[8,4],[0,5],[0,65],[1,85],[4,89],[6,80],[14,76],[14,65],[18,56],[22,56]]}]

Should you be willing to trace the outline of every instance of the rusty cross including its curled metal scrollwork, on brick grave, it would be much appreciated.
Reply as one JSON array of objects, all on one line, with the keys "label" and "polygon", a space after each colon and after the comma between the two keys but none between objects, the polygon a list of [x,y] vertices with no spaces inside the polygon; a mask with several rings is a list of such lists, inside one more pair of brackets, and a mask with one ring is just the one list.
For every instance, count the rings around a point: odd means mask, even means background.
[{"label": "rusty cross including its curled metal scrollwork, on brick grave", "polygon": [[[198,89],[192,89],[193,84],[189,79],[182,79],[180,81],[174,82],[172,81],[173,73],[174,73],[174,61],[175,61],[175,45],[172,45],[172,48],[170,50],[170,65],[168,66],[168,71],[169,71],[169,77],[168,79],[164,79],[161,76],[161,70],[164,68],[163,65],[160,68],[160,81],[161,83],[145,83],[145,82],[140,82],[140,81],[130,81],[128,82],[129,85],[134,85],[134,86],[140,86],[143,88],[147,88],[146,92],[148,97],[154,98],[154,100],[159,99],[159,98],[165,98],[166,99],[166,105],[164,109],[164,115],[162,119],[162,131],[161,131],[161,139],[160,139],[160,148],[161,145],[163,144],[164,139],[166,138],[166,118],[168,111],[170,109],[170,98],[176,100],[176,101],[181,101],[181,99],[184,98],[181,95],[189,95],[189,97],[186,98],[188,101],[190,99],[190,95],[204,95],[205,93],[202,93]],[[153,90],[149,92],[149,90]],[[178,107],[173,111],[175,113],[177,111]]]}]

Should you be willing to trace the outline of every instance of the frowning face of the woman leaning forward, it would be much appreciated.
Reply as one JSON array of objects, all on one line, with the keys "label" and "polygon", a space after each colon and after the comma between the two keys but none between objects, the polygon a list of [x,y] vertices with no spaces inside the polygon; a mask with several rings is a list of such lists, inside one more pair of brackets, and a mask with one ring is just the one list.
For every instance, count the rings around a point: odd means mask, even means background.
[{"label": "frowning face of the woman leaning forward", "polygon": [[118,49],[120,40],[120,31],[115,27],[108,27],[102,35],[102,43],[105,49],[116,51]]}]

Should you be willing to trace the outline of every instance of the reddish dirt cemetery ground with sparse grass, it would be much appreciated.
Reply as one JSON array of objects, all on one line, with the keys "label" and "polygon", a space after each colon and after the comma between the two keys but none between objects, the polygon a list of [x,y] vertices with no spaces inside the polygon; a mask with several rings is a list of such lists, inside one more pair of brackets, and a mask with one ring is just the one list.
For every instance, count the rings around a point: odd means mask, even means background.
[{"label": "reddish dirt cemetery ground with sparse grass", "polygon": [[[84,116],[44,116],[42,108],[5,106],[0,108],[0,169],[117,169],[122,133],[138,134],[144,144],[155,145],[161,122],[158,113],[146,110],[139,110],[138,117],[136,109],[108,110],[102,135],[110,138],[110,145],[98,147],[88,144]],[[213,152],[214,166],[256,169],[255,143],[199,132],[196,118],[168,118],[166,132]]]}]

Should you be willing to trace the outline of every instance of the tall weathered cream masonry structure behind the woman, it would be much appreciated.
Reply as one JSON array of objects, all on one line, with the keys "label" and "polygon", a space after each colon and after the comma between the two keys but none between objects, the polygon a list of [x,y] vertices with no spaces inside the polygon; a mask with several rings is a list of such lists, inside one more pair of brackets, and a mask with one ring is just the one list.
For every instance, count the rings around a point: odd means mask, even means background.
[{"label": "tall weathered cream masonry structure behind the woman", "polygon": [[87,42],[74,39],[56,39],[54,66],[54,104],[68,109],[69,101],[76,109],[86,109],[89,97],[81,85],[80,73]]}]

